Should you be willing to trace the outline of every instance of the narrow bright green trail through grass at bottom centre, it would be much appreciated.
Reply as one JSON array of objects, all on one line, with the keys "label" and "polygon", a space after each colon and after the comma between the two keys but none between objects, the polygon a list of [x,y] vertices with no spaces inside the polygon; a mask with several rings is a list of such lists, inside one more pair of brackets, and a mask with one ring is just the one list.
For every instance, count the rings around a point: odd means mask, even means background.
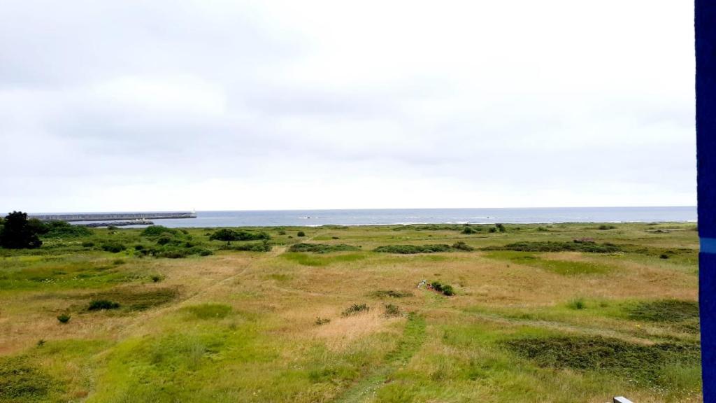
[{"label": "narrow bright green trail through grass at bottom centre", "polygon": [[423,341],[425,341],[425,318],[411,313],[397,347],[385,356],[385,364],[347,389],[334,402],[366,402],[372,398],[392,373],[412,359],[412,356],[422,346]]}]

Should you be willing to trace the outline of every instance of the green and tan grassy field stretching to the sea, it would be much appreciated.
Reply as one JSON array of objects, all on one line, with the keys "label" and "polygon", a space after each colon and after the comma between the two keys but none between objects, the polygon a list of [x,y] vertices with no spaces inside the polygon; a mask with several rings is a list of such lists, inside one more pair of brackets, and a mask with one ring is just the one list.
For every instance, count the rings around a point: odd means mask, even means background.
[{"label": "green and tan grassy field stretching to the sea", "polygon": [[0,250],[0,402],[701,401],[694,224],[243,230]]}]

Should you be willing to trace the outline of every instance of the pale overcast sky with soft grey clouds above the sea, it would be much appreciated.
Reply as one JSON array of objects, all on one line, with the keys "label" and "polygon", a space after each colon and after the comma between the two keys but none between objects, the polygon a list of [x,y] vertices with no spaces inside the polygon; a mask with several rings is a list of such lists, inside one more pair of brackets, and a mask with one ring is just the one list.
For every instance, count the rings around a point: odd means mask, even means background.
[{"label": "pale overcast sky with soft grey clouds above the sea", "polygon": [[695,205],[692,9],[0,0],[0,211]]}]

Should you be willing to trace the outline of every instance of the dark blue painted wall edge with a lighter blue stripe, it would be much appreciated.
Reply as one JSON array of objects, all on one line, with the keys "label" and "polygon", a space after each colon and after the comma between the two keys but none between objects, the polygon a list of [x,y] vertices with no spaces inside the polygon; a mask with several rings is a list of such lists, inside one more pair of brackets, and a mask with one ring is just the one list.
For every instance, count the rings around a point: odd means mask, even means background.
[{"label": "dark blue painted wall edge with a lighter blue stripe", "polygon": [[695,0],[699,300],[704,402],[716,402],[716,0]]}]

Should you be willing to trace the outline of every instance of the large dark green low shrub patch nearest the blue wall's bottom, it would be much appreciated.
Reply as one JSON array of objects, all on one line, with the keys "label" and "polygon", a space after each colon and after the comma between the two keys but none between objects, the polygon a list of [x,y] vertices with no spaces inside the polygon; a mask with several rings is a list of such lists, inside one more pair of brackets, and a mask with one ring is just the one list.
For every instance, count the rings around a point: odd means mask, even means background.
[{"label": "large dark green low shrub patch nearest the blue wall's bottom", "polygon": [[693,365],[698,344],[658,343],[652,346],[601,336],[551,336],[503,342],[510,351],[538,366],[579,371],[605,371],[636,383],[655,384],[666,364]]}]

